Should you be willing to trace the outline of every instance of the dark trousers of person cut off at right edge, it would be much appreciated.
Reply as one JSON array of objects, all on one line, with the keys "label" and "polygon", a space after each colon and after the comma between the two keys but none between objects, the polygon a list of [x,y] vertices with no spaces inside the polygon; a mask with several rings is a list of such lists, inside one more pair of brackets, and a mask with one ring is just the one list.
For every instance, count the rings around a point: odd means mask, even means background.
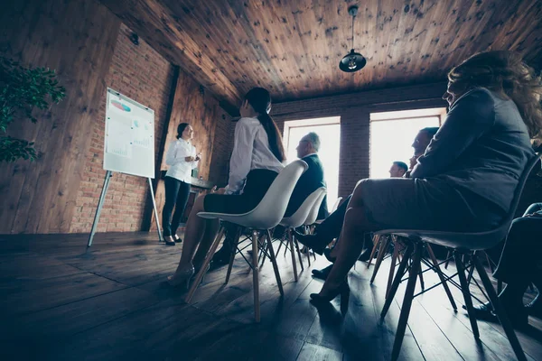
[{"label": "dark trousers of person cut off at right edge", "polygon": [[[531,205],[525,214],[542,209],[542,203]],[[493,276],[506,283],[542,281],[542,218],[522,217],[512,222],[499,265]]]}]

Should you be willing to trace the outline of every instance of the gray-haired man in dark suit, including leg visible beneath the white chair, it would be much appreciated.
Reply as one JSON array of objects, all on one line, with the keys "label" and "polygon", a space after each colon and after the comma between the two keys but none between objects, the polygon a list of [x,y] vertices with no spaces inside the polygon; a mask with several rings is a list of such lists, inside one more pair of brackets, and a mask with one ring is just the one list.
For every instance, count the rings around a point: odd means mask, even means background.
[{"label": "gray-haired man in dark suit, including leg visible beneath the white chair", "polygon": [[[288,207],[286,208],[285,217],[292,216],[297,208],[299,208],[304,199],[306,199],[314,190],[319,189],[320,187],[325,187],[325,180],[323,180],[323,167],[320,158],[318,157],[318,150],[320,149],[320,137],[316,133],[309,133],[304,135],[303,138],[297,144],[297,157],[304,160],[309,165],[307,171],[305,171],[301,178],[297,181]],[[318,211],[317,219],[324,219],[329,216],[327,209],[327,197],[324,197],[322,200],[322,205]],[[211,268],[217,268],[224,264],[229,263],[229,257],[233,250],[233,235],[237,230],[236,226],[231,227],[226,224],[227,232],[226,239],[219,251],[215,253],[212,257]],[[284,232],[284,229],[277,229],[281,227],[276,227],[275,236],[277,236],[280,231]]]}]

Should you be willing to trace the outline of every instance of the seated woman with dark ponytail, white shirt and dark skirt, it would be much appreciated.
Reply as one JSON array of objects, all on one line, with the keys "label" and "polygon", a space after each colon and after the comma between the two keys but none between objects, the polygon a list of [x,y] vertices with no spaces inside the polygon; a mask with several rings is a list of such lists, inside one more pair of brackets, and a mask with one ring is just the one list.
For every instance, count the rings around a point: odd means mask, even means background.
[{"label": "seated woman with dark ponytail, white shirt and dark skirt", "polygon": [[194,202],[184,232],[181,261],[175,274],[168,277],[170,284],[188,285],[217,236],[219,220],[200,218],[198,212],[242,214],[256,208],[284,168],[285,150],[270,110],[271,97],[266,89],[248,91],[239,108],[241,119],[235,127],[228,186]]}]

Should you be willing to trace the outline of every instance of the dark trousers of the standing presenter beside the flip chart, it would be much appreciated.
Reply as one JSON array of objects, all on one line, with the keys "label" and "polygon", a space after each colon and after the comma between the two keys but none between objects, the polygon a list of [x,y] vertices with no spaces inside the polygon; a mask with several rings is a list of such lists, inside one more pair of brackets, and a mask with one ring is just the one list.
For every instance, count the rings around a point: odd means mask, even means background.
[{"label": "dark trousers of the standing presenter beside the flip chart", "polygon": [[[164,225],[164,236],[173,236],[181,222],[182,213],[190,195],[190,184],[173,177],[165,177],[165,204],[162,211],[162,223]],[[172,212],[175,208],[175,213]]]}]

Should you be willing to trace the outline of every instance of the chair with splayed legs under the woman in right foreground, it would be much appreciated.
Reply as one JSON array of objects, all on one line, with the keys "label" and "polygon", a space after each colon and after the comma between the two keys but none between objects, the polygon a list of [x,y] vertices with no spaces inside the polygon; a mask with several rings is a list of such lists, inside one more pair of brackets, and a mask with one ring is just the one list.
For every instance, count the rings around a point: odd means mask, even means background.
[{"label": "chair with splayed legs under the woman in right foreground", "polygon": [[480,332],[478,330],[478,324],[476,323],[476,318],[474,316],[471,292],[469,292],[469,284],[465,277],[465,267],[463,264],[462,257],[465,258],[470,256],[472,258],[472,266],[478,271],[481,282],[488,294],[488,297],[491,301],[493,309],[496,310],[497,316],[502,325],[502,329],[506,333],[509,343],[516,354],[516,357],[519,360],[527,360],[521,345],[519,344],[518,337],[514,332],[506,312],[500,304],[499,298],[497,297],[497,292],[493,288],[490,278],[488,277],[485,268],[478,259],[476,251],[481,251],[489,249],[497,245],[502,239],[504,239],[508,232],[509,227],[514,220],[514,215],[516,214],[516,209],[518,208],[519,198],[525,187],[525,183],[528,179],[528,175],[534,169],[535,165],[538,162],[540,157],[534,156],[528,162],[527,167],[521,174],[519,179],[518,186],[514,192],[514,199],[509,208],[509,214],[506,219],[502,221],[499,227],[491,229],[490,231],[485,232],[443,232],[443,231],[432,231],[432,230],[415,230],[415,229],[385,229],[378,231],[378,234],[392,234],[397,236],[405,237],[408,241],[406,247],[405,255],[399,268],[397,270],[396,276],[393,280],[393,284],[389,291],[388,298],[384,304],[384,308],[380,314],[380,318],[386,317],[389,307],[393,301],[393,298],[397,292],[401,278],[405,274],[406,265],[410,259],[411,255],[413,256],[412,264],[410,264],[410,271],[408,276],[408,282],[406,284],[405,298],[403,299],[403,305],[401,307],[401,315],[399,316],[399,322],[397,325],[396,338],[393,344],[393,350],[391,354],[392,360],[397,360],[399,352],[401,350],[401,345],[403,343],[403,338],[405,336],[406,322],[408,321],[408,315],[410,313],[410,307],[412,306],[412,300],[414,299],[414,290],[416,288],[416,277],[421,269],[421,258],[422,252],[424,250],[424,242],[435,245],[444,245],[445,247],[451,247],[454,249],[453,256],[455,258],[455,264],[457,266],[457,275],[461,283],[461,291],[463,292],[463,298],[465,301],[465,306],[467,308],[467,313],[469,314],[469,319],[471,321],[471,328],[474,338],[480,338]]}]

